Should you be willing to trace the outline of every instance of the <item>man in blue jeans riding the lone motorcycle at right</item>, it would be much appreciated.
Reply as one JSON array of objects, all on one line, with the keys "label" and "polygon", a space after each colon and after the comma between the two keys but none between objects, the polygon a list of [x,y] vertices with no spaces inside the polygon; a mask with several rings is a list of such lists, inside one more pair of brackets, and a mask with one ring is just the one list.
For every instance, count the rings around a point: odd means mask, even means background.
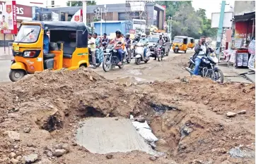
[{"label": "man in blue jeans riding the lone motorcycle at right", "polygon": [[199,66],[202,61],[202,57],[205,56],[207,53],[209,53],[209,49],[205,42],[205,39],[206,37],[204,36],[200,37],[199,43],[197,44],[197,46],[194,46],[194,51],[195,51],[193,56],[193,58],[195,58],[194,59],[195,66],[194,66],[194,72],[193,72],[194,75],[199,74]]}]

